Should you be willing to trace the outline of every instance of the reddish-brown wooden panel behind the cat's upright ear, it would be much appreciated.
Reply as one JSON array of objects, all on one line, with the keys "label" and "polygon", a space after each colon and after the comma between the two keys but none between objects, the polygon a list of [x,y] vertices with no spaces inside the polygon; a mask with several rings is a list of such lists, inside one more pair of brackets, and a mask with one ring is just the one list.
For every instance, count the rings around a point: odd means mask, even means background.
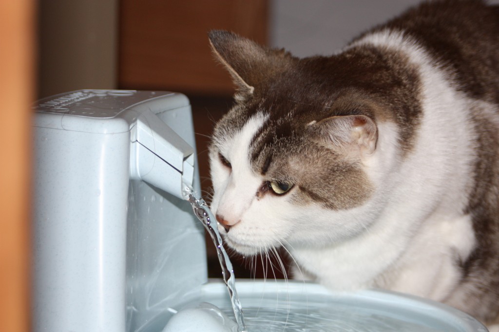
[{"label": "reddish-brown wooden panel behind the cat's upright ear", "polygon": [[214,61],[212,29],[225,29],[267,44],[267,0],[121,0],[119,87],[191,95],[234,92]]}]

